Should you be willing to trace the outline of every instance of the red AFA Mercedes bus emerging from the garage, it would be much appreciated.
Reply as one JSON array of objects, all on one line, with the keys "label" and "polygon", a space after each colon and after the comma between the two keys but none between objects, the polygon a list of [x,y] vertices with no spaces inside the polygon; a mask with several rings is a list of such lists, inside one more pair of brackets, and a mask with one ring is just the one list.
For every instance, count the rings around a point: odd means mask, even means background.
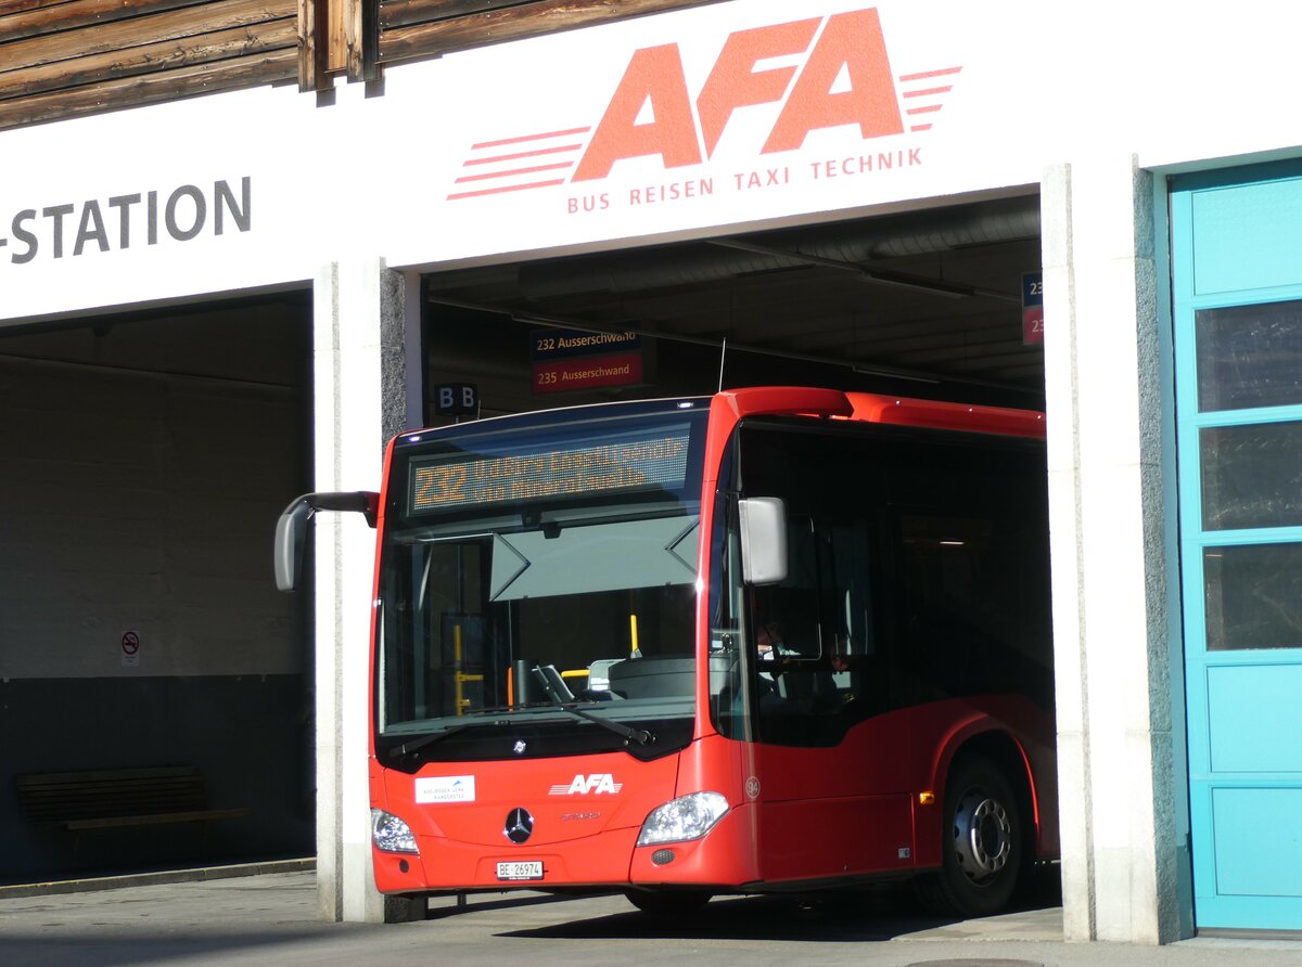
[{"label": "red AFA Mercedes bus emerging from the garage", "polygon": [[388,894],[639,908],[914,877],[1003,908],[1057,851],[1043,418],[751,388],[405,433],[380,495]]}]

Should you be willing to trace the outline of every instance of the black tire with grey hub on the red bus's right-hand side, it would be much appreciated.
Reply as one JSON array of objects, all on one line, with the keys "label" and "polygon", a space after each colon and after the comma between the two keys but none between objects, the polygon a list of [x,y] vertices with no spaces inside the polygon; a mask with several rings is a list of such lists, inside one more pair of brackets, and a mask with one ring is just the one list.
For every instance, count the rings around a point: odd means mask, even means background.
[{"label": "black tire with grey hub on the red bus's right-hand side", "polygon": [[965,756],[945,782],[940,871],[918,881],[943,916],[991,916],[1008,906],[1026,862],[1026,830],[1013,787],[983,756]]}]

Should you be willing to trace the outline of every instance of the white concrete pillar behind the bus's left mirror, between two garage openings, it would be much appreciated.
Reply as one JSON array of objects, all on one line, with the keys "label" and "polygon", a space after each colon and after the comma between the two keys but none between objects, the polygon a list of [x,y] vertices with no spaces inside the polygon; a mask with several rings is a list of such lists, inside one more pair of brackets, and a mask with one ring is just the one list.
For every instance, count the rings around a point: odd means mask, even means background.
[{"label": "white concrete pillar behind the bus's left mirror, between two garage openings", "polygon": [[[316,491],[378,491],[384,444],[421,407],[419,280],[379,259],[324,267],[314,284]],[[326,920],[380,923],[367,782],[375,531],[315,514],[316,885]],[[393,919],[391,915],[388,919]]]}]

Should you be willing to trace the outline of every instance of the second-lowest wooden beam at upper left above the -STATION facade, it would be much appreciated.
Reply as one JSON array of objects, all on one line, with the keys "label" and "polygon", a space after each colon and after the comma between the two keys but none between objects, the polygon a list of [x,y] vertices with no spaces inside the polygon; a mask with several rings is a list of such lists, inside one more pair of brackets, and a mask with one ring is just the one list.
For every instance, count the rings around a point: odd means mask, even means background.
[{"label": "second-lowest wooden beam at upper left above the -STATION facade", "polygon": [[297,51],[297,44],[298,27],[286,17],[268,23],[216,30],[182,42],[161,40],[125,51],[107,51],[90,57],[10,70],[0,78],[0,99],[13,100],[268,51]]}]

